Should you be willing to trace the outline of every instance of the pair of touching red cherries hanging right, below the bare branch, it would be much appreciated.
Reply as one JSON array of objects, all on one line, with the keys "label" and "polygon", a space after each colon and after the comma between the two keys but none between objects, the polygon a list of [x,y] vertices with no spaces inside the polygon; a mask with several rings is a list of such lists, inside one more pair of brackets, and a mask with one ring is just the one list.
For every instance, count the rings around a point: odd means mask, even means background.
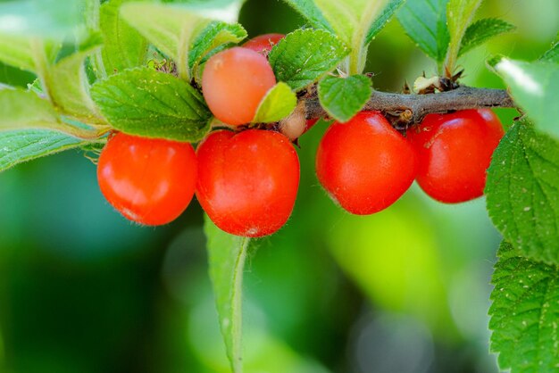
[{"label": "pair of touching red cherries hanging right, below the bare branch", "polygon": [[491,155],[505,135],[488,109],[429,114],[402,136],[380,112],[334,122],[322,137],[316,174],[346,211],[367,215],[395,203],[413,180],[432,198],[483,195]]}]

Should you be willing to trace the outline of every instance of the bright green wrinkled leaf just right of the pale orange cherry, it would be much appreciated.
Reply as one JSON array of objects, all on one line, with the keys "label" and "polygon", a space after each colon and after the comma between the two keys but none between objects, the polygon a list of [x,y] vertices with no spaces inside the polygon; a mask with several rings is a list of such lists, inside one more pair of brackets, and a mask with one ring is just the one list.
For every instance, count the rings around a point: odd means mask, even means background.
[{"label": "bright green wrinkled leaf just right of the pale orange cherry", "polygon": [[349,53],[338,37],[320,29],[298,29],[271,49],[271,68],[299,91],[334,70]]}]

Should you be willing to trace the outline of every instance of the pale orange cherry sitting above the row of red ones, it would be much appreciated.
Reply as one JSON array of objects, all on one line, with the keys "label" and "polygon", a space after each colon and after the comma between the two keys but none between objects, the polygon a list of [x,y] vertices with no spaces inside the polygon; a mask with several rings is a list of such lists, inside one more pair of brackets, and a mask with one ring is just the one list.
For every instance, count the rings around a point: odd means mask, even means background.
[{"label": "pale orange cherry sitting above the row of red ones", "polygon": [[213,55],[202,73],[204,99],[213,115],[232,126],[249,123],[276,84],[262,54],[240,46]]}]

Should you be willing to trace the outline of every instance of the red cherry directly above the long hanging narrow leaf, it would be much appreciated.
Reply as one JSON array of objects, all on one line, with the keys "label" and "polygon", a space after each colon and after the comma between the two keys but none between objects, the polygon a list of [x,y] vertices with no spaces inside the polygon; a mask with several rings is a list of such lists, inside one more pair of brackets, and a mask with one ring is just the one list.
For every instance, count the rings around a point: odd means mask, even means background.
[{"label": "red cherry directly above the long hanging narrow leaf", "polygon": [[196,197],[216,226],[259,237],[286,223],[299,185],[299,159],[287,137],[261,129],[219,130],[196,153]]}]

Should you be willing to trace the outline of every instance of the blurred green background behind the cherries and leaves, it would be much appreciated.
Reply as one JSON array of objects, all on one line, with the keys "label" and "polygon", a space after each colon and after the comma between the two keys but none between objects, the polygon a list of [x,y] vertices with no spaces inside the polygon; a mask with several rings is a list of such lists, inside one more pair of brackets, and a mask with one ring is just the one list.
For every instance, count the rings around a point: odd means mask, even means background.
[{"label": "blurred green background behind the cherries and leaves", "polygon": [[[463,82],[503,87],[484,61],[537,58],[555,37],[559,3],[488,0],[482,16],[518,30],[469,54]],[[240,22],[251,37],[304,24],[278,0],[248,0]],[[383,90],[436,72],[397,21],[369,60]],[[0,65],[2,83],[33,79]],[[497,112],[505,126],[516,115]],[[326,128],[300,139],[293,216],[248,261],[246,371],[496,372],[487,311],[500,237],[484,199],[444,205],[413,186],[386,211],[351,216],[314,176]],[[76,151],[0,174],[0,371],[228,372],[201,224],[197,203],[163,228],[124,220]]]}]

